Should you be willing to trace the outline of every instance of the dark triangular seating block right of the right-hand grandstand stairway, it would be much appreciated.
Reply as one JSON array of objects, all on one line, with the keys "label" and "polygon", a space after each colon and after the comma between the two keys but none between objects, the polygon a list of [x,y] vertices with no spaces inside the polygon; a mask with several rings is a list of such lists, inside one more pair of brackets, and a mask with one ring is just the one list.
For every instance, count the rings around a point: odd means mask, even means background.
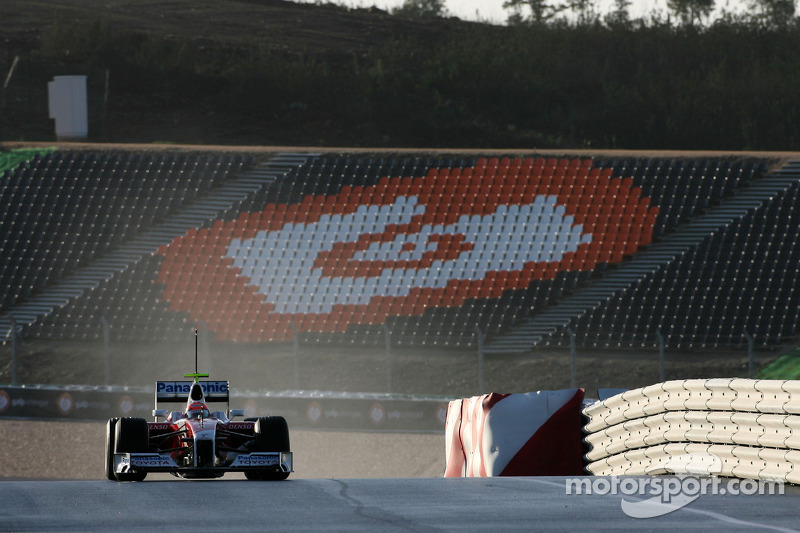
[{"label": "dark triangular seating block right of the right-hand grandstand stairway", "polygon": [[576,328],[581,342],[654,346],[659,330],[668,344],[685,348],[738,345],[745,333],[764,345],[794,336],[799,195],[795,184],[636,290],[583,317]]}]

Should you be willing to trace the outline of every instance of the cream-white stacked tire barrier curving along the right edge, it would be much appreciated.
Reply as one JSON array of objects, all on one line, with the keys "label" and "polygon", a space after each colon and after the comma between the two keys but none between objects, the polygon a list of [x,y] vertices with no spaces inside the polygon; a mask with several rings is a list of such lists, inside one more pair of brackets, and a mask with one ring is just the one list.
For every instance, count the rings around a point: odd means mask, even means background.
[{"label": "cream-white stacked tire barrier curving along the right edge", "polygon": [[800,381],[667,381],[596,402],[584,416],[595,475],[800,482]]}]

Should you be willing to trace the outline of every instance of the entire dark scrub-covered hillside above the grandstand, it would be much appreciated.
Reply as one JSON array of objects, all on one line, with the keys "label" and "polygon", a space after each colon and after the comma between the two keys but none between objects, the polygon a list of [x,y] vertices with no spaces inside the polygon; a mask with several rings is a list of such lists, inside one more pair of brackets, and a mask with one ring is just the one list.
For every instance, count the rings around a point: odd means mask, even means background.
[{"label": "entire dark scrub-covered hillside above the grandstand", "polygon": [[282,0],[2,2],[0,20],[5,141],[54,140],[47,82],[84,74],[99,142],[800,145],[795,24],[506,27]]}]

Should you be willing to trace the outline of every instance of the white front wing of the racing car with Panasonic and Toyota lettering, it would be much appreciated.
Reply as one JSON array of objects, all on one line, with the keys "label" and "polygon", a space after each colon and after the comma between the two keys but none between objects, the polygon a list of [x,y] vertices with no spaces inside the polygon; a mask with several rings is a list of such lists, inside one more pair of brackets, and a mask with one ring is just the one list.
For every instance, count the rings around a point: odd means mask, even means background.
[{"label": "white front wing of the racing car with Panasonic and Toyota lettering", "polygon": [[206,472],[223,474],[225,472],[247,472],[274,468],[276,471],[293,472],[292,452],[253,452],[239,454],[229,465],[211,468],[179,466],[169,453],[115,453],[114,472]]}]

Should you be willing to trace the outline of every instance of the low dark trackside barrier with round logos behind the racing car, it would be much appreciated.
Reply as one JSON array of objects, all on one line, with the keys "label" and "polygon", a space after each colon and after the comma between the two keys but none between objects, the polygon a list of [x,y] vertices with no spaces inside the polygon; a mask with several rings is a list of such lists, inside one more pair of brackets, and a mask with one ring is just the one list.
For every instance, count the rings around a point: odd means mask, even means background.
[{"label": "low dark trackside barrier with round logos behind the racing car", "polygon": [[[307,391],[239,393],[231,407],[245,416],[281,415],[292,427],[440,433],[447,399],[388,394]],[[150,419],[153,390],[124,387],[0,387],[0,418],[107,420],[112,416]]]}]

